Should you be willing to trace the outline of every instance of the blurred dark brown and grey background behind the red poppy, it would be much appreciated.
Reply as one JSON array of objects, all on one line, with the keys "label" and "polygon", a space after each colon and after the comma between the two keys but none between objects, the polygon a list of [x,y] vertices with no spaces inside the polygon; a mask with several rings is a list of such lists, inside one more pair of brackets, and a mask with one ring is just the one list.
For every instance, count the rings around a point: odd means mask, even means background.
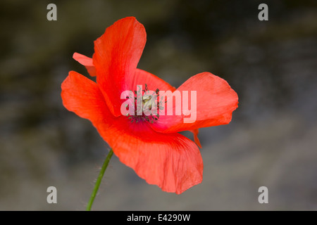
[{"label": "blurred dark brown and grey background behind the red poppy", "polygon": [[[57,6],[57,21],[46,6]],[[268,4],[268,21],[258,6]],[[232,122],[200,129],[204,180],[165,193],[113,157],[94,210],[317,210],[317,1],[0,3],[0,210],[85,210],[108,153],[63,108],[74,52],[133,15],[147,30],[138,68],[179,86],[199,72],[240,97]],[[56,186],[58,203],[46,203]],[[268,204],[258,188],[268,187]]]}]

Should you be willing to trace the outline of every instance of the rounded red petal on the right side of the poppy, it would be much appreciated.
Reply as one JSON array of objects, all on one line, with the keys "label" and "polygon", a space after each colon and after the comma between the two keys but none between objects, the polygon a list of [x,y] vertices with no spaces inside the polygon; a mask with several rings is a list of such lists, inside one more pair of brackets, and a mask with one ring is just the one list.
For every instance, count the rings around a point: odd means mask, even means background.
[{"label": "rounded red petal on the right side of the poppy", "polygon": [[[190,115],[193,115],[192,122],[184,122],[184,118],[189,117],[189,113],[184,115],[185,110],[182,110],[181,115],[175,115],[175,108],[181,106],[181,101],[174,103],[173,115],[160,115],[159,120],[151,124],[154,130],[174,133],[228,124],[231,121],[232,111],[237,108],[237,93],[231,89],[228,82],[210,72],[201,72],[190,77],[176,91],[180,91],[182,97],[184,95],[182,91],[188,91],[188,96],[192,95],[191,91],[196,91],[197,100],[193,101],[193,104],[196,103],[196,110],[193,110],[194,105],[191,105],[192,97],[188,99],[188,109],[192,110]],[[171,99],[171,96],[167,97],[167,101]]]}]

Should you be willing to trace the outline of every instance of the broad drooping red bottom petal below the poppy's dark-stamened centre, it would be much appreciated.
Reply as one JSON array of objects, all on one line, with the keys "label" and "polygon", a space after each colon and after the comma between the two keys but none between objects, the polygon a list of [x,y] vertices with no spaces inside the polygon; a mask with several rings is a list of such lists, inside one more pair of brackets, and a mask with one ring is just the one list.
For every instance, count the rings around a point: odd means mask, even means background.
[{"label": "broad drooping red bottom petal below the poppy's dark-stamened centre", "polygon": [[149,184],[163,191],[182,193],[201,183],[203,162],[193,141],[181,134],[156,133],[149,124],[116,117],[110,129],[97,124],[99,134],[121,162]]}]

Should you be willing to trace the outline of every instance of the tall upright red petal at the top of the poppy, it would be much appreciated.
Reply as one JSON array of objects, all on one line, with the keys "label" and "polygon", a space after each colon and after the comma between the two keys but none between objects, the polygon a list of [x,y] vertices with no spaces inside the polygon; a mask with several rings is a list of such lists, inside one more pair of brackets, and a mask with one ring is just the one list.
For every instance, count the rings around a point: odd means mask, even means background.
[{"label": "tall upright red petal at the top of the poppy", "polygon": [[115,116],[121,115],[120,105],[124,100],[120,99],[120,94],[129,90],[146,40],[144,26],[129,17],[118,20],[94,41],[97,83]]}]

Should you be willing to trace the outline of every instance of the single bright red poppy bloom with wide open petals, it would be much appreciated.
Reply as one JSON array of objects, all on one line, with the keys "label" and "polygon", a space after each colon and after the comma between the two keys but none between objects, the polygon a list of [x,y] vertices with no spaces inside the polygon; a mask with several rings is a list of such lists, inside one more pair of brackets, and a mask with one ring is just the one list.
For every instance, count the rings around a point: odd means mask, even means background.
[{"label": "single bright red poppy bloom with wide open petals", "polygon": [[[123,18],[106,29],[94,41],[94,56],[74,53],[97,82],[70,71],[61,85],[63,105],[97,128],[121,162],[163,191],[182,193],[201,183],[203,162],[199,153],[198,129],[228,124],[238,98],[224,79],[202,72],[189,78],[178,89],[159,77],[137,69],[146,42],[146,32],[135,18]],[[196,121],[184,123],[181,115],[161,115],[139,122],[122,115],[125,90],[137,91],[137,85],[149,90],[197,91]],[[167,102],[170,98],[167,98]],[[176,108],[177,104],[173,104]],[[190,108],[190,105],[189,105]],[[197,145],[179,131],[194,133]]]}]

